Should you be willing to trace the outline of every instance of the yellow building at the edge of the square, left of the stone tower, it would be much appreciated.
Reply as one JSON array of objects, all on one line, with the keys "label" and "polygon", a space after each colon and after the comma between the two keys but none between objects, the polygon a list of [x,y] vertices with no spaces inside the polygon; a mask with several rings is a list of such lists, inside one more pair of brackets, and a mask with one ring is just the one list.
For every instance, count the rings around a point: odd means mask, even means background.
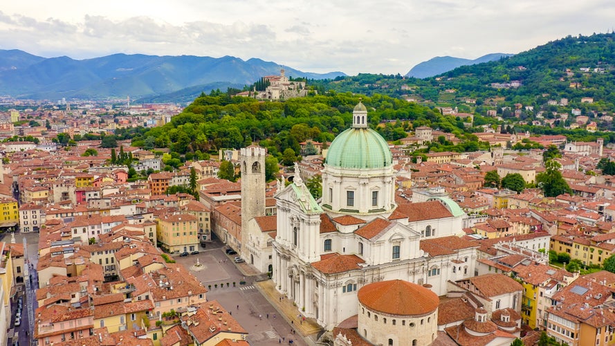
[{"label": "yellow building at the edge of the square, left of the stone tower", "polygon": [[160,217],[157,233],[158,242],[169,253],[190,253],[199,248],[199,225],[194,215]]}]

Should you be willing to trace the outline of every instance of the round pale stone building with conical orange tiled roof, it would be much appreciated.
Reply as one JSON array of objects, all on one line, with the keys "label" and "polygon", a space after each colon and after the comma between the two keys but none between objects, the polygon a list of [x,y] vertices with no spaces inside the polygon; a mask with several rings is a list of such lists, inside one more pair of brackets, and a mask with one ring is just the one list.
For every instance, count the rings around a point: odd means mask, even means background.
[{"label": "round pale stone building with conical orange tiled roof", "polygon": [[374,345],[431,345],[438,331],[439,298],[404,280],[359,289],[357,332]]}]

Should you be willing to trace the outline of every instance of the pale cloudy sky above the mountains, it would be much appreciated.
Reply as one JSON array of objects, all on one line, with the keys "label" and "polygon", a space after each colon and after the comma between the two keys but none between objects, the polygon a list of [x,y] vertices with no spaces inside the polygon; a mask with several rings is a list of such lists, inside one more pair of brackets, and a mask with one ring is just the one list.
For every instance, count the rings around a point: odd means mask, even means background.
[{"label": "pale cloudy sky above the mountains", "polygon": [[615,28],[612,0],[5,0],[0,49],[258,57],[309,72],[401,73]]}]

